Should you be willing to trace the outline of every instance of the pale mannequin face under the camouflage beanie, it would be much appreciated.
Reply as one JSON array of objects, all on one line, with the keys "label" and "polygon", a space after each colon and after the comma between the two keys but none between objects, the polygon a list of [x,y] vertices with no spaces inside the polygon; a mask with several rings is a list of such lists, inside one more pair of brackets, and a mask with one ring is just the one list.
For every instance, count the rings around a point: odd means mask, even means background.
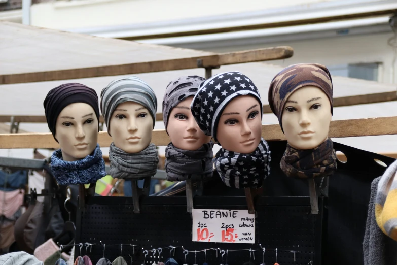
[{"label": "pale mannequin face under the camouflage beanie", "polygon": [[321,89],[305,86],[288,97],[281,116],[285,138],[295,149],[313,149],[325,142],[331,122],[331,103]]}]

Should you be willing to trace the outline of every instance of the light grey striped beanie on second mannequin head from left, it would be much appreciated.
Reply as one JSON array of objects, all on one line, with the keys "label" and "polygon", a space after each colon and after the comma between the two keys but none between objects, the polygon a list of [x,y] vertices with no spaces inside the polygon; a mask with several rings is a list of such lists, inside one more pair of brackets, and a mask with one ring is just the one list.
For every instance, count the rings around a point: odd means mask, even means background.
[{"label": "light grey striped beanie on second mannequin head from left", "polygon": [[[136,76],[113,80],[100,93],[100,110],[109,133],[109,122],[116,107],[124,102],[138,103],[150,112],[153,128],[156,122],[157,98],[153,89]],[[110,135],[110,134],[109,134]]]}]

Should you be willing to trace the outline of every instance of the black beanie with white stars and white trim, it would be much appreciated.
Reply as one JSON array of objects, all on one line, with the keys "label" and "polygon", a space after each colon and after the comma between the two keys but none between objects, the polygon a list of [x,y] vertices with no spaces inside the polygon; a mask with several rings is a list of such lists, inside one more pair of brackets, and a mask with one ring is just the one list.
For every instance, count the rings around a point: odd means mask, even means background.
[{"label": "black beanie with white stars and white trim", "polygon": [[257,98],[263,113],[261,96],[252,81],[240,72],[214,75],[203,82],[193,98],[190,109],[205,135],[216,139],[216,130],[223,110],[236,96],[252,95]]}]

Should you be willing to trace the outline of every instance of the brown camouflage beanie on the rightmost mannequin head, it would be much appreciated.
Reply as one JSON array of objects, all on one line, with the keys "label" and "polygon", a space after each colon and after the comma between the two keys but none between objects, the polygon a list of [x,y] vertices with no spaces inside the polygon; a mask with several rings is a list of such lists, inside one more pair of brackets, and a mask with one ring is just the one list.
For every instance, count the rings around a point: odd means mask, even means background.
[{"label": "brown camouflage beanie on the rightmost mannequin head", "polygon": [[333,114],[332,78],[327,67],[318,63],[290,65],[273,78],[268,96],[270,109],[277,116],[283,132],[281,117],[285,103],[292,93],[305,86],[315,86],[324,91],[330,100],[331,115]]}]

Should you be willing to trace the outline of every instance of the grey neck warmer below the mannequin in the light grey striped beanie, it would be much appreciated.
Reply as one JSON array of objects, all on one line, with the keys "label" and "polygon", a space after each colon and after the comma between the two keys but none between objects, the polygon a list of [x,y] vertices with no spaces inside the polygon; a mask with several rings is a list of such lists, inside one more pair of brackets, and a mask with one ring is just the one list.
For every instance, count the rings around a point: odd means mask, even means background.
[{"label": "grey neck warmer below the mannequin in the light grey striped beanie", "polygon": [[156,146],[150,144],[139,153],[126,153],[111,144],[109,150],[110,175],[118,179],[142,179],[157,172],[159,156]]}]

